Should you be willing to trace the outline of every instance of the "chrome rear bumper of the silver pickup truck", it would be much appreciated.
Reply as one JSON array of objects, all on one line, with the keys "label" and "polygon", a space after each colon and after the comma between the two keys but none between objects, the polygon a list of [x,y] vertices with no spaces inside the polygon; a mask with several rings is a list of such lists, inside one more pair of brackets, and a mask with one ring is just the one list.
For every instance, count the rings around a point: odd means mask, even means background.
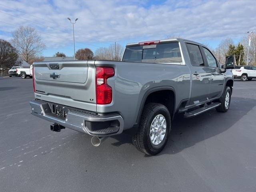
[{"label": "chrome rear bumper of the silver pickup truck", "polygon": [[49,103],[43,100],[31,100],[31,114],[42,119],[60,124],[92,136],[111,136],[120,134],[124,128],[124,120],[119,114],[99,115],[85,110],[68,110],[66,118],[52,113]]}]

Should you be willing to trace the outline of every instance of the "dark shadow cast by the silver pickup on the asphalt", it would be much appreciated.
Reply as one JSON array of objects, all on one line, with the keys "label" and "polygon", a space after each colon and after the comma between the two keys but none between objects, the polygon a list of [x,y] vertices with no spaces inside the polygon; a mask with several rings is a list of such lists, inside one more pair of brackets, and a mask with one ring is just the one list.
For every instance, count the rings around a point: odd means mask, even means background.
[{"label": "dark shadow cast by the silver pickup on the asphalt", "polygon": [[[256,106],[255,99],[232,97],[230,109],[226,113],[210,110],[194,118],[184,118],[182,114],[178,114],[173,120],[172,131],[164,150],[156,156],[179,153],[198,142],[221,134],[236,124],[254,106]],[[125,134],[112,138],[118,140],[112,143],[113,146],[132,143],[131,137]],[[150,156],[145,155],[145,157]]]}]

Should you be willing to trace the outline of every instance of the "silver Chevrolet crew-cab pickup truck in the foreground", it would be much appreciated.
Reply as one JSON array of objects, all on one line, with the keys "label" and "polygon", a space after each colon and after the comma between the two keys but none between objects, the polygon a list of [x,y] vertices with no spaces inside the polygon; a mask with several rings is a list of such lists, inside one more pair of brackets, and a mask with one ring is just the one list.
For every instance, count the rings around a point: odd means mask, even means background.
[{"label": "silver Chevrolet crew-cab pickup truck in the foreground", "polygon": [[228,110],[233,62],[220,65],[206,46],[184,39],[127,44],[122,61],[35,62],[32,114],[53,122],[52,131],[93,136],[94,146],[132,134],[138,150],[155,155],[175,114]]}]

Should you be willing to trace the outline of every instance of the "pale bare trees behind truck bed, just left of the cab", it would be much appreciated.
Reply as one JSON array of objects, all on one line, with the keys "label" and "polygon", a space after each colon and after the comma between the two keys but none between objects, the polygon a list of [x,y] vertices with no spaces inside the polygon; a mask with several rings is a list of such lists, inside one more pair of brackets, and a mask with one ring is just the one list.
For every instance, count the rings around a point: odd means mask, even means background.
[{"label": "pale bare trees behind truck bed, just left of the cab", "polygon": [[110,45],[108,48],[98,48],[95,52],[95,58],[97,60],[122,60],[122,55],[124,52],[124,47],[120,44],[116,46]]}]

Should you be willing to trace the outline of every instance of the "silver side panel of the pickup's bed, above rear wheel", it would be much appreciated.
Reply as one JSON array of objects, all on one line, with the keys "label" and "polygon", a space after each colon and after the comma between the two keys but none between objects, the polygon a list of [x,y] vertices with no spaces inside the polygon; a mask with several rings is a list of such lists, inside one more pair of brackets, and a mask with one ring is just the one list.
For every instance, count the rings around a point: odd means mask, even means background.
[{"label": "silver side panel of the pickup's bed, above rear wheel", "polygon": [[97,105],[97,112],[122,114],[124,130],[138,123],[141,104],[143,106],[143,100],[151,92],[173,90],[178,95],[176,108],[190,94],[190,70],[186,65],[95,61],[95,66],[110,66],[116,73],[108,79],[113,89],[113,101],[108,105]]}]

